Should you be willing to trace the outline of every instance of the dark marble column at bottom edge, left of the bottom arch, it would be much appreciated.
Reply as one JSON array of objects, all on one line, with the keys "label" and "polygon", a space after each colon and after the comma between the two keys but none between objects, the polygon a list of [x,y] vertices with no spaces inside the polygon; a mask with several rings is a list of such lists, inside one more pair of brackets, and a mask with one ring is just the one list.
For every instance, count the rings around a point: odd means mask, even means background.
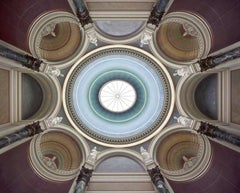
[{"label": "dark marble column at bottom edge, left of the bottom arch", "polygon": [[86,187],[90,181],[90,178],[92,177],[92,169],[88,169],[85,166],[82,166],[82,169],[80,170],[80,174],[77,178],[77,185],[75,188],[74,193],[84,193],[86,190]]}]

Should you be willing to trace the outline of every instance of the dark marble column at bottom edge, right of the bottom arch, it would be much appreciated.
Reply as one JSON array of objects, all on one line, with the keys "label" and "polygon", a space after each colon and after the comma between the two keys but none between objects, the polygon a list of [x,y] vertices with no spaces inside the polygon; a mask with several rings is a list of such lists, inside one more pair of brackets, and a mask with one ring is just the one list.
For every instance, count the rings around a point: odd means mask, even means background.
[{"label": "dark marble column at bottom edge, right of the bottom arch", "polygon": [[164,178],[158,166],[148,170],[148,174],[151,177],[151,180],[153,184],[156,186],[159,193],[169,193],[168,189],[166,188]]}]

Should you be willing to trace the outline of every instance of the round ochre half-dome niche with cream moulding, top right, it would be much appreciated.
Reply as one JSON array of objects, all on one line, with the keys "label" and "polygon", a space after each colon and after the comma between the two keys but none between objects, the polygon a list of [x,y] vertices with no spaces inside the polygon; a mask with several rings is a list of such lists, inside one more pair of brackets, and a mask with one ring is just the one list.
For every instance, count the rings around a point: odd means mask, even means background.
[{"label": "round ochre half-dome niche with cream moulding, top right", "polygon": [[167,14],[154,35],[153,51],[170,66],[192,64],[208,55],[212,34],[198,15],[187,12]]}]

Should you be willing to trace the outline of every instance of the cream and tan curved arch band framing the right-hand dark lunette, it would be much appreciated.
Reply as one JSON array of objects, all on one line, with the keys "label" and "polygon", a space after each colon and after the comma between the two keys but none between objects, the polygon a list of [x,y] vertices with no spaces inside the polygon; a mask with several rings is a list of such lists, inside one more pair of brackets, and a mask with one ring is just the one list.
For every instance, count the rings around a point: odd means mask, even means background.
[{"label": "cream and tan curved arch band framing the right-hand dark lunette", "polygon": [[196,104],[196,89],[205,78],[212,73],[196,73],[182,77],[176,87],[176,106],[180,114],[195,120],[213,120],[204,114]]}]

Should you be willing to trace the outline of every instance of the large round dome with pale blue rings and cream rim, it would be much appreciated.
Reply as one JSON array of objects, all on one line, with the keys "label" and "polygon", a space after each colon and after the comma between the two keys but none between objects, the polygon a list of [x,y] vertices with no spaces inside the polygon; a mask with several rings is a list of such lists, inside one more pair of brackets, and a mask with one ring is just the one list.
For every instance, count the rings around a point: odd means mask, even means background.
[{"label": "large round dome with pale blue rings and cream rim", "polygon": [[63,87],[67,117],[82,135],[105,146],[132,146],[158,133],[174,106],[165,67],[132,46],[106,46],[79,60]]}]

